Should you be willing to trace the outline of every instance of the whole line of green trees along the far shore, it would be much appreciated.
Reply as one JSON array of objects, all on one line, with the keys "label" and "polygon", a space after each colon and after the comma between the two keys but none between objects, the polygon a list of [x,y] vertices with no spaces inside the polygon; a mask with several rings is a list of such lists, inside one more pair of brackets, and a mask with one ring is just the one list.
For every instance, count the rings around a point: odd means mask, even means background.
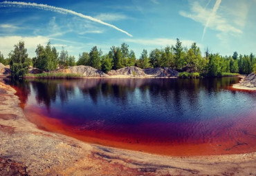
[{"label": "whole line of green trees along the far shore", "polygon": [[68,51],[62,47],[61,52],[57,52],[51,46],[50,41],[46,46],[38,45],[35,50],[36,57],[30,59],[25,48],[24,41],[19,41],[15,45],[8,58],[3,58],[0,52],[0,62],[8,65],[12,70],[12,77],[22,77],[28,71],[28,66],[39,68],[46,72],[57,68],[67,68],[68,66],[91,66],[108,72],[118,70],[127,66],[138,66],[139,68],[168,67],[180,72],[200,72],[203,75],[217,77],[221,72],[232,72],[240,74],[250,74],[256,72],[256,57],[250,55],[238,55],[234,52],[232,56],[221,56],[218,53],[212,54],[207,49],[202,56],[199,46],[192,43],[190,48],[184,47],[179,39],[176,44],[166,46],[161,49],[143,50],[137,59],[133,50],[129,50],[127,43],[121,46],[112,46],[107,54],[102,53],[97,46],[93,46],[89,52],[82,52],[77,61],[75,57],[68,55]]}]

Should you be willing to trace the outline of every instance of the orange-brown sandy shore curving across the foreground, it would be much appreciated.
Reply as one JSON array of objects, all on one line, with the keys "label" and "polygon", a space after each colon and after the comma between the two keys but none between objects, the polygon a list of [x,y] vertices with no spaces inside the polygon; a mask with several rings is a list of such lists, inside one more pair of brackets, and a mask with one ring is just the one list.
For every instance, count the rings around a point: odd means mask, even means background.
[{"label": "orange-brown sandy shore curving across the foreground", "polygon": [[170,157],[39,130],[0,78],[0,175],[256,175],[256,153]]}]

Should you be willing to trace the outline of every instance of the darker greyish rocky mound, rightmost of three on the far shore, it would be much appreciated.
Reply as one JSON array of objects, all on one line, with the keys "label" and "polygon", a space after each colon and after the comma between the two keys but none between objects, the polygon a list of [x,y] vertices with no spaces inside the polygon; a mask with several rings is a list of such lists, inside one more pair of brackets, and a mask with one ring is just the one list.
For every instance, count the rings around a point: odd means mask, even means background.
[{"label": "darker greyish rocky mound, rightmost of three on the far shore", "polygon": [[143,71],[153,77],[178,77],[179,72],[172,68],[146,68]]}]

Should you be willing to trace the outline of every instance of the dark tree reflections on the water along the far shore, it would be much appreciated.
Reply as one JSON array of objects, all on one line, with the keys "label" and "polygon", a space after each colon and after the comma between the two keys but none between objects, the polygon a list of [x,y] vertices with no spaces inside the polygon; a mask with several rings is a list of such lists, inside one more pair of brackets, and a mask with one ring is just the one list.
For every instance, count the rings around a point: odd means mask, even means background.
[{"label": "dark tree reflections on the water along the far shore", "polygon": [[[237,83],[238,79],[209,78],[209,79],[25,79],[9,80],[12,86],[17,87],[17,94],[21,104],[26,104],[30,87],[33,88],[37,104],[44,104],[48,109],[51,103],[60,99],[64,104],[75,95],[75,89],[80,90],[84,97],[89,96],[93,103],[99,99],[109,99],[114,104],[126,105],[132,102],[139,93],[141,101],[164,104],[165,108],[173,107],[181,115],[183,105],[188,104],[190,109],[201,106],[200,92],[208,95],[217,94]],[[77,95],[77,96],[80,96]],[[137,97],[138,98],[138,97]]]}]

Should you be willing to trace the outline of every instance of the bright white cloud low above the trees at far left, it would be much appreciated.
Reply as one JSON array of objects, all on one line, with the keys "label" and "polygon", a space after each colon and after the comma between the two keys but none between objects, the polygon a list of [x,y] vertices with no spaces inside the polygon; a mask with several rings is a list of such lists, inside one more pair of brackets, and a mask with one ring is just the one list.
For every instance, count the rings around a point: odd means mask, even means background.
[{"label": "bright white cloud low above the trees at far left", "polygon": [[36,36],[36,37],[21,37],[21,36],[7,36],[0,37],[0,48],[1,53],[4,57],[8,57],[8,54],[11,50],[14,49],[14,46],[23,40],[25,42],[25,48],[28,50],[28,55],[30,57],[35,56],[35,49],[38,44],[46,45],[49,41],[48,37]]}]

